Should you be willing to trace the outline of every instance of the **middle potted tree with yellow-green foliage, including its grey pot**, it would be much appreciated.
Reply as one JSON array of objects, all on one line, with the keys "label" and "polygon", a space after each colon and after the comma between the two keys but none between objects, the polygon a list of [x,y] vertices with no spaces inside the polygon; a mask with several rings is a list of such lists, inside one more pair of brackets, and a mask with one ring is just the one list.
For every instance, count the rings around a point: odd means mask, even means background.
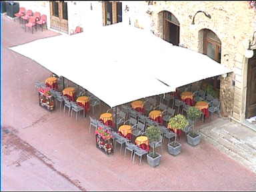
[{"label": "middle potted tree with yellow-green foliage, including its grey pot", "polygon": [[174,129],[175,139],[167,144],[169,154],[178,155],[181,153],[181,143],[177,142],[177,129],[184,129],[187,125],[189,122],[184,115],[178,114],[170,118],[168,127]]}]

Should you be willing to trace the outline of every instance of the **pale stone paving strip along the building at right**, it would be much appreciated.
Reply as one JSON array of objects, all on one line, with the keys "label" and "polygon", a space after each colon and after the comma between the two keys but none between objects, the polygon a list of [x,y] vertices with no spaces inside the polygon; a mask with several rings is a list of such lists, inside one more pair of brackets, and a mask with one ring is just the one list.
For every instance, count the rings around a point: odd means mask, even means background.
[{"label": "pale stone paving strip along the building at right", "polygon": [[203,138],[256,173],[256,132],[228,119],[201,127]]}]

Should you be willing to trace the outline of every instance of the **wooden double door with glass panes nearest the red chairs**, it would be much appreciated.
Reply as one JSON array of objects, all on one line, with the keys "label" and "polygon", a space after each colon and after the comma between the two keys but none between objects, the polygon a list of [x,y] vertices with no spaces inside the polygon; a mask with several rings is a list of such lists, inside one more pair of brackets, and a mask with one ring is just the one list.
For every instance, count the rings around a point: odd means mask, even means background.
[{"label": "wooden double door with glass panes nearest the red chairs", "polygon": [[51,28],[68,33],[67,3],[50,1]]}]

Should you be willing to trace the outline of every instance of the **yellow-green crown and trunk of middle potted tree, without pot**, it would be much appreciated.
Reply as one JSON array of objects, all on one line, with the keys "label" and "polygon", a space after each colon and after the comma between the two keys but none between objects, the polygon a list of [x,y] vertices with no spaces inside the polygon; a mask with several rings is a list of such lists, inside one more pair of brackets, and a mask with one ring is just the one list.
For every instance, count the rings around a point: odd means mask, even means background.
[{"label": "yellow-green crown and trunk of middle potted tree, without pot", "polygon": [[175,139],[173,145],[177,144],[177,129],[184,129],[187,127],[187,125],[189,125],[189,122],[184,115],[178,114],[170,118],[168,127],[175,130]]}]

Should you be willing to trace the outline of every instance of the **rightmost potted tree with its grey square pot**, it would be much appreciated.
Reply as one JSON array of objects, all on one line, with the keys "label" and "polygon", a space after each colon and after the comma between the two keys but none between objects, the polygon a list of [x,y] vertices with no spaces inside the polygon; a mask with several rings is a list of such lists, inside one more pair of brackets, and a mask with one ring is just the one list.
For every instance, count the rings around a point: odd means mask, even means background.
[{"label": "rightmost potted tree with its grey square pot", "polygon": [[187,134],[187,143],[189,143],[189,145],[195,146],[201,141],[201,135],[197,133],[197,130],[195,129],[195,120],[201,117],[201,115],[202,112],[195,107],[189,107],[189,110],[187,111],[187,117],[192,122],[192,129],[190,129]]}]

